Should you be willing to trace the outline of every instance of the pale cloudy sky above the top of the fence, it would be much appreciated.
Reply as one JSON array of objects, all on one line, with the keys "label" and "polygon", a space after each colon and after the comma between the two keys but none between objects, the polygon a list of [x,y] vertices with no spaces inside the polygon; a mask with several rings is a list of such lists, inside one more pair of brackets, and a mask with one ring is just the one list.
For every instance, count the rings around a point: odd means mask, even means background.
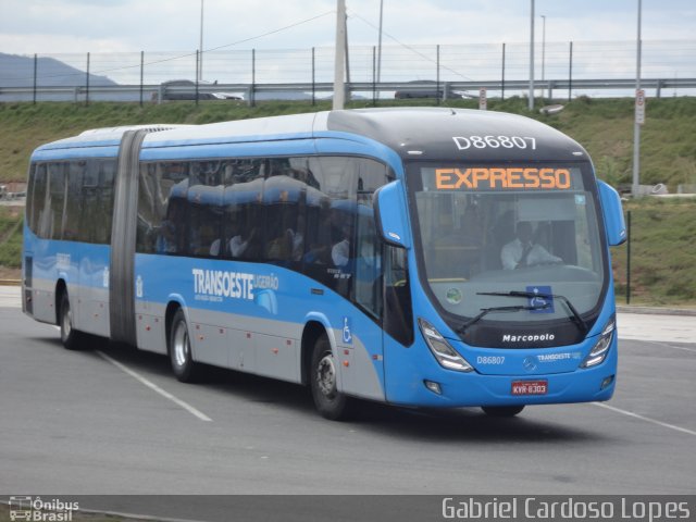
[{"label": "pale cloudy sky above the top of the fence", "polygon": [[[346,3],[350,44],[376,45],[380,1]],[[536,0],[537,41],[540,15],[546,16],[547,42],[634,40],[637,3]],[[527,41],[530,4],[530,0],[384,0],[383,44],[395,45],[389,37],[408,45]],[[0,0],[0,52],[195,50],[200,7],[200,0]],[[203,48],[333,47],[335,9],[335,0],[204,0]],[[294,24],[298,25],[254,38]],[[695,0],[643,0],[644,39],[694,39],[695,29]]]}]

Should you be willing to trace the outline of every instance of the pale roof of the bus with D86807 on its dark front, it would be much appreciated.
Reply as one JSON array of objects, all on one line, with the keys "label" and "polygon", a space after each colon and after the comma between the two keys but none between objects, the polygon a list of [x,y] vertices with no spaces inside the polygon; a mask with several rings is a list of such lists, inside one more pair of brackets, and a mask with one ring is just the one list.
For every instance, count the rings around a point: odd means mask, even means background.
[{"label": "pale roof of the bus with D86807 on its dark front", "polygon": [[[37,150],[117,146],[126,130],[147,128],[144,149],[343,138],[383,144],[402,159],[569,161],[587,158],[573,139],[535,120],[494,111],[383,108],[269,116],[206,125],[134,125],[91,129]],[[475,142],[474,142],[475,141]]]}]

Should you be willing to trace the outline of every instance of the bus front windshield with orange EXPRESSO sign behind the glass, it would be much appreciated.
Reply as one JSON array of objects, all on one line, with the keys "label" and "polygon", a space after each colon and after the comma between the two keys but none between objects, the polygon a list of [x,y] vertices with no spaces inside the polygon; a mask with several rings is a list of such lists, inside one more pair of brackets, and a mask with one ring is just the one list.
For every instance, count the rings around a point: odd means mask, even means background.
[{"label": "bus front windshield with orange EXPRESSO sign behind the glass", "polygon": [[608,269],[588,162],[407,171],[421,279],[456,330],[597,311]]}]

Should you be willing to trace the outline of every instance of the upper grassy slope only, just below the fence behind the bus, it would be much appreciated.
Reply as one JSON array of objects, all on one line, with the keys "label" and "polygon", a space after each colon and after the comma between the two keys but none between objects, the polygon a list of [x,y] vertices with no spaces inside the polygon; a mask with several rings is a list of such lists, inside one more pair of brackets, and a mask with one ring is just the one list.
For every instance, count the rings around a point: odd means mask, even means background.
[{"label": "upper grassy slope only, just below the fence behind the bus", "polygon": [[[423,100],[420,103],[433,103]],[[381,105],[407,102],[381,101]],[[476,101],[450,100],[450,107],[475,108]],[[410,104],[419,104],[411,101]],[[350,107],[370,103],[351,102]],[[537,105],[539,105],[537,103]],[[633,164],[633,100],[579,98],[559,114],[532,114],[521,98],[489,100],[489,110],[531,115],[575,138],[592,156],[599,177],[630,184]],[[233,101],[147,103],[44,102],[0,104],[0,183],[24,181],[28,158],[38,145],[87,128],[140,123],[211,123],[330,109],[328,102],[262,102],[247,107]],[[641,183],[696,184],[696,98],[648,99],[642,130]]]}]

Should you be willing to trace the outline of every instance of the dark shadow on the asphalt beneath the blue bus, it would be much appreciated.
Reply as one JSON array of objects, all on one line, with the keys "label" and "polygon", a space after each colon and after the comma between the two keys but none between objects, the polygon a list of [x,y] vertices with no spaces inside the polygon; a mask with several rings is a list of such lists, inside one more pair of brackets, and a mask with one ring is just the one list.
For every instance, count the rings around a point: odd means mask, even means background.
[{"label": "dark shadow on the asphalt beneath the blue bus", "polygon": [[[61,347],[60,339],[37,340]],[[138,372],[174,381],[166,356],[138,350],[99,337],[90,338],[87,349],[82,353],[96,357],[96,351],[101,351]],[[198,383],[200,386],[240,400],[276,405],[312,420],[319,415],[307,387],[228,369],[203,365],[202,370],[203,375]],[[537,407],[527,408],[515,418],[500,419],[488,417],[478,408],[411,409],[358,400],[355,414],[344,424],[375,435],[424,443],[468,440],[487,444],[568,444],[597,443],[606,438],[606,434],[600,431],[579,428],[576,425],[570,425],[570,421],[569,424],[561,424],[557,421],[525,417],[533,408]]]}]

